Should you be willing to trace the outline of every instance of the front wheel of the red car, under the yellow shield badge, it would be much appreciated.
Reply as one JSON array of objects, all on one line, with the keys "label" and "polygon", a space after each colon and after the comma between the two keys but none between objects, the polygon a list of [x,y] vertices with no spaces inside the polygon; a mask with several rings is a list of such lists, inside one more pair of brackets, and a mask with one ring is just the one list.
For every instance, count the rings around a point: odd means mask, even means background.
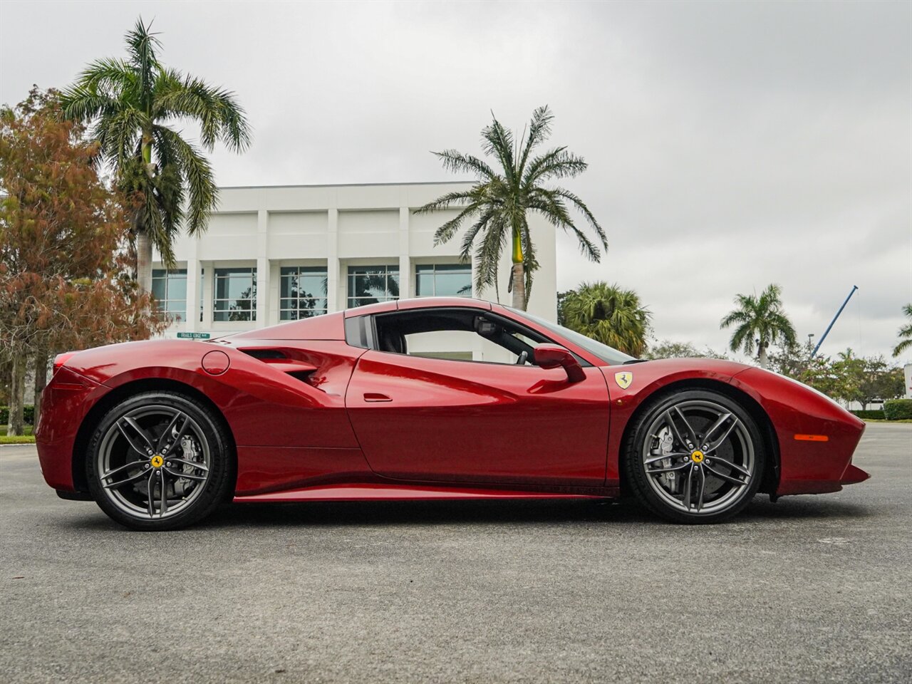
[{"label": "front wheel of the red car, under the yellow shield badge", "polygon": [[[708,430],[712,434],[704,435]],[[652,400],[631,426],[622,458],[639,503],[667,520],[691,524],[719,523],[739,513],[757,493],[765,465],[756,421],[737,401],[710,389]]]}]

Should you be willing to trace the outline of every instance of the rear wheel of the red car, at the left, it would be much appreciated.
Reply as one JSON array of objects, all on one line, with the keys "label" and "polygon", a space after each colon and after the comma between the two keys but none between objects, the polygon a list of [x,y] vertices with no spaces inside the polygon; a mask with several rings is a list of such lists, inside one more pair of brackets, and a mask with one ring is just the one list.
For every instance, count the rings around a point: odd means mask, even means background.
[{"label": "rear wheel of the red car, at the left", "polygon": [[131,529],[186,527],[232,493],[231,444],[223,421],[201,401],[142,392],[109,409],[92,433],[88,491],[112,520]]}]

